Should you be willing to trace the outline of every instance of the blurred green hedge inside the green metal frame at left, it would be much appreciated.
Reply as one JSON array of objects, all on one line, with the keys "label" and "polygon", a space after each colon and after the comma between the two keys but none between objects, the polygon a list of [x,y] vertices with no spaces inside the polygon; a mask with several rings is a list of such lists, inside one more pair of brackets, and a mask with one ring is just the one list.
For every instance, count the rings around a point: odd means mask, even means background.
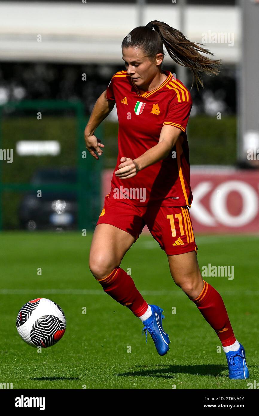
[{"label": "blurred green hedge inside the green metal frame at left", "polygon": [[[16,143],[20,140],[57,140],[61,144],[58,156],[19,156]],[[76,164],[76,119],[74,117],[44,116],[3,119],[1,124],[1,148],[13,149],[13,162],[2,161],[3,183],[28,183],[38,168],[75,166]],[[18,223],[18,207],[23,192],[2,193],[2,220],[4,229],[15,229]]]}]

